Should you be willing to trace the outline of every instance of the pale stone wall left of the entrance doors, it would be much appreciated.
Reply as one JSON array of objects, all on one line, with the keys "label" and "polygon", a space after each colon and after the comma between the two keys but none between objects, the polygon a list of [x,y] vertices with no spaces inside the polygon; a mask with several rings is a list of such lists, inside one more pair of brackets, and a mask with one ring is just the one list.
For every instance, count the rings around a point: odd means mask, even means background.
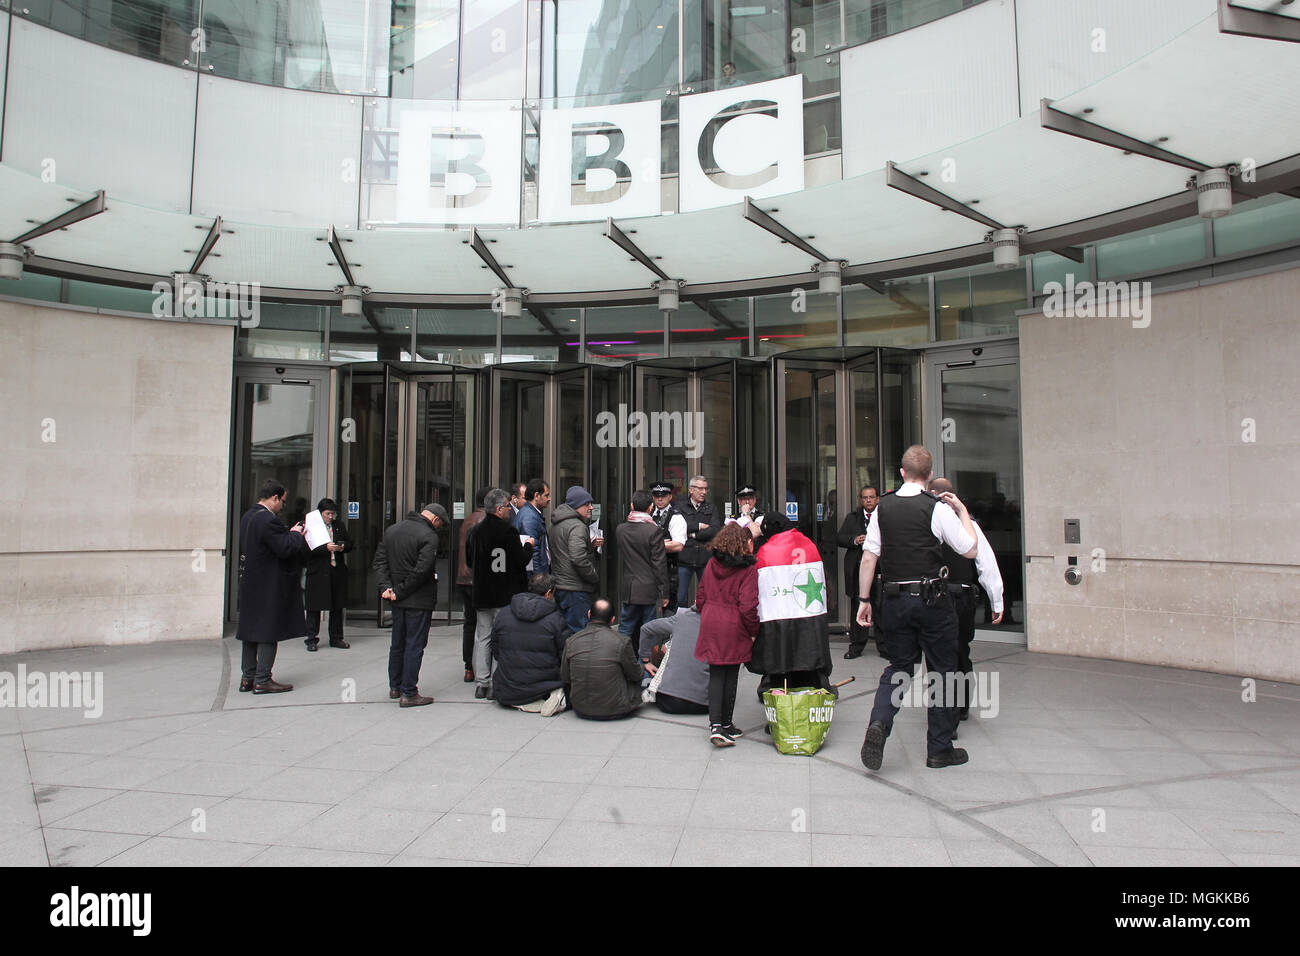
[{"label": "pale stone wall left of the entrance doors", "polygon": [[0,654],[221,637],[233,334],[0,302]]}]

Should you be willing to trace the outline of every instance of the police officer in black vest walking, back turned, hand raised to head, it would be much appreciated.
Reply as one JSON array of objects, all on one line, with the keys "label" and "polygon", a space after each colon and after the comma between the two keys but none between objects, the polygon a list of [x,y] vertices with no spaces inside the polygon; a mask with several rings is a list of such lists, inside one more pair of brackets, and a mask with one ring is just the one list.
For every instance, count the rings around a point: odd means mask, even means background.
[{"label": "police officer in black vest walking, back turned, hand raised to head", "polygon": [[[889,657],[862,741],[862,763],[868,770],[880,769],[885,739],[898,714],[894,695],[910,679],[922,653],[932,679],[940,682],[927,708],[926,766],[939,769],[967,761],[966,750],[953,747],[957,708],[949,700],[949,688],[957,671],[957,611],[942,568],[945,544],[962,557],[975,557],[975,528],[956,494],[936,497],[926,490],[933,459],[924,446],[909,447],[900,471],[902,486],[884,496],[871,515],[858,568],[858,593],[870,594],[880,563],[880,618]],[[871,602],[859,597],[858,623],[870,626],[871,614]]]}]

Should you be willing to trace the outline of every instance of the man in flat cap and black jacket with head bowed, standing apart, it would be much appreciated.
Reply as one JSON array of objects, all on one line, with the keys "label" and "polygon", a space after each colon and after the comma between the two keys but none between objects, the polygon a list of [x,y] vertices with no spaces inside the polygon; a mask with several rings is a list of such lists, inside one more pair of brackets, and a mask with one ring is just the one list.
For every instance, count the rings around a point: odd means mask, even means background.
[{"label": "man in flat cap and black jacket with head bowed, standing apart", "polygon": [[429,643],[429,622],[438,606],[438,533],[448,524],[442,505],[425,505],[384,532],[374,551],[374,575],[393,601],[393,644],[389,646],[389,697],[403,708],[433,704],[420,693],[420,665]]}]

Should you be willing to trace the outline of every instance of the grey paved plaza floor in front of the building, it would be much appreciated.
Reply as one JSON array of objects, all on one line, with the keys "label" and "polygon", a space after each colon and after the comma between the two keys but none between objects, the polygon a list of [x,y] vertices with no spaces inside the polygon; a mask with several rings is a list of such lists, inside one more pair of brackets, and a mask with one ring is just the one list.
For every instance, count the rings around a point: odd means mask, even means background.
[{"label": "grey paved plaza floor in front of the building", "polygon": [[[1297,865],[1300,687],[976,644],[997,713],[930,770],[905,708],[858,750],[883,661],[842,661],[826,747],[780,756],[742,671],[733,748],[654,706],[619,722],[473,700],[460,628],[387,698],[387,633],[280,648],[286,695],[238,692],[226,639],[0,658],[103,674],[103,715],[0,708],[0,864]],[[233,665],[233,666],[231,666]],[[992,689],[989,684],[989,689]]]}]

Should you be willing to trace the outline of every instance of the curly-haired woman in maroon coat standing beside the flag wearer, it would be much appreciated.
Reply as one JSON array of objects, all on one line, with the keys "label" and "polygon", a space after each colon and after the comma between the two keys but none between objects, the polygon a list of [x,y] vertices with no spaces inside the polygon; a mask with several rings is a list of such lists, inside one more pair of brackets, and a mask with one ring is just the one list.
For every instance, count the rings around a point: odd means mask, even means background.
[{"label": "curly-haired woman in maroon coat standing beside the flag wearer", "polygon": [[732,723],[740,666],[754,653],[758,636],[758,568],[754,536],[728,524],[708,542],[712,559],[705,566],[696,609],[699,640],[696,657],[708,665],[708,739],[714,747],[733,747],[740,728]]}]

